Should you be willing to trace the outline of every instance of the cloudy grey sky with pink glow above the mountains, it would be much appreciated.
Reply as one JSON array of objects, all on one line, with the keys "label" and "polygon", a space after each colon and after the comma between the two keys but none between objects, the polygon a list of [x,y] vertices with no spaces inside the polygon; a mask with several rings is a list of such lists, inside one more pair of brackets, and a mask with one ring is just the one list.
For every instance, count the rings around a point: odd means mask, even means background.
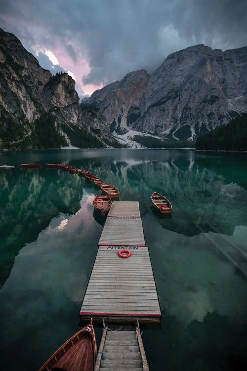
[{"label": "cloudy grey sky with pink glow above the mountains", "polygon": [[0,27],[82,96],[187,46],[247,46],[247,1],[1,0]]}]

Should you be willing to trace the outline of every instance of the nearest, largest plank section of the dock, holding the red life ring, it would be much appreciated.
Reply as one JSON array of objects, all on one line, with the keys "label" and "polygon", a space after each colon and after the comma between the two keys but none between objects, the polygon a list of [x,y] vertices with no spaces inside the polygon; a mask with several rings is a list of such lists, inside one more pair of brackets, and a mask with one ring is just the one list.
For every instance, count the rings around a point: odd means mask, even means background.
[{"label": "nearest, largest plank section of the dock, holding the red life ring", "polygon": [[148,247],[137,247],[127,259],[119,249],[99,246],[80,316],[161,317]]}]

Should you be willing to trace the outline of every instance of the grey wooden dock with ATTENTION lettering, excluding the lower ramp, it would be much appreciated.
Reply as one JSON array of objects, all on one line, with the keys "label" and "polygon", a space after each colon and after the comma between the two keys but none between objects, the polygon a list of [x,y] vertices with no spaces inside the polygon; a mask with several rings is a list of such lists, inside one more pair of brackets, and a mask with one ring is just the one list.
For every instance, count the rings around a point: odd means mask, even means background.
[{"label": "grey wooden dock with ATTENTION lettering, excluding the lower ramp", "polygon": [[[127,215],[128,214],[128,215]],[[138,216],[139,215],[139,216]],[[113,202],[80,311],[81,321],[160,322],[161,310],[138,202]],[[121,258],[119,250],[131,252]]]}]

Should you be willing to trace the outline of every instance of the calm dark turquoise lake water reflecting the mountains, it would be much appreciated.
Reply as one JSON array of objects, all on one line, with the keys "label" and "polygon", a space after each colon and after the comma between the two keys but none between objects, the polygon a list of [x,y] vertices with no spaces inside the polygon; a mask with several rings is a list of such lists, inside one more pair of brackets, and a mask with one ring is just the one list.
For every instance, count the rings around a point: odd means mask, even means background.
[{"label": "calm dark turquoise lake water reflecting the mountains", "polygon": [[[87,169],[115,185],[121,201],[139,201],[163,315],[157,329],[141,327],[150,370],[245,370],[247,155],[85,149],[0,158],[0,165],[46,162]],[[170,215],[152,208],[154,191],[171,201]],[[92,206],[100,193],[45,166],[0,170],[1,370],[38,370],[80,329],[103,229]]]}]

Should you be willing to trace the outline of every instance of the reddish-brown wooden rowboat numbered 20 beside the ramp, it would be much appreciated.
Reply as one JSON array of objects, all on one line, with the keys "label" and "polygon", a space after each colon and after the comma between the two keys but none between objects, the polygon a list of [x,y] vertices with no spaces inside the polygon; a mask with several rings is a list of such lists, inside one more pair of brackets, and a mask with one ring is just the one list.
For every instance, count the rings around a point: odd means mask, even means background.
[{"label": "reddish-brown wooden rowboat numbered 20 beside the ramp", "polygon": [[91,323],[67,340],[39,371],[93,371],[97,344]]}]

